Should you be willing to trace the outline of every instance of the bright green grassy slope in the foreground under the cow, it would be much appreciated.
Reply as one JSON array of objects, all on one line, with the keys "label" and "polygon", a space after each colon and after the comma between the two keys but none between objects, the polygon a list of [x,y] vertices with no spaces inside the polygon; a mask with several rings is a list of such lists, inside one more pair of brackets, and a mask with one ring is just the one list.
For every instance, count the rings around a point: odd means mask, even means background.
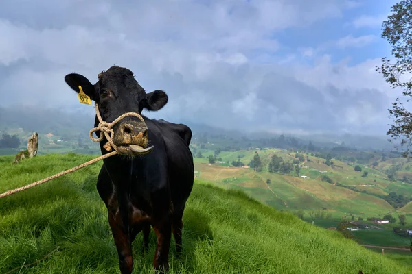
[{"label": "bright green grassy slope in the foreground under the cow", "polygon": [[[12,166],[0,157],[0,192],[90,160],[90,155],[39,155]],[[106,208],[95,190],[101,163],[0,199],[0,272],[56,253],[23,273],[119,273]],[[338,232],[278,212],[243,192],[195,182],[183,216],[183,260],[171,251],[171,273],[410,273]],[[135,272],[152,273],[155,237]],[[403,258],[403,257],[402,257]],[[18,273],[19,271],[16,271]]]}]

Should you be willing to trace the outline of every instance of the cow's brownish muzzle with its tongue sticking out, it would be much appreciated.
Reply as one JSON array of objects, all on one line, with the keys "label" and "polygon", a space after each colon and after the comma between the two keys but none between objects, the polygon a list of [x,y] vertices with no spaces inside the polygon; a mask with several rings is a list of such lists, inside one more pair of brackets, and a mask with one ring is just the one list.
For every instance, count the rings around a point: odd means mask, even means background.
[{"label": "cow's brownish muzzle with its tongue sticking out", "polygon": [[144,155],[150,153],[153,146],[148,147],[148,127],[144,123],[133,120],[119,124],[114,132],[113,143],[120,155]]}]

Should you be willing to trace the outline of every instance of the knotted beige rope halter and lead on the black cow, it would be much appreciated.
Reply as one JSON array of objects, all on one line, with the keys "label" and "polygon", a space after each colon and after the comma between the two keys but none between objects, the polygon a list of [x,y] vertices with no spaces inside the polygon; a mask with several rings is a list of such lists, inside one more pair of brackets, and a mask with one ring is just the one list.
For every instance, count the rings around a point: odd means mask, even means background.
[{"label": "knotted beige rope halter and lead on the black cow", "polygon": [[[115,144],[113,144],[113,134],[114,134],[114,132],[113,132],[112,127],[116,123],[118,123],[120,120],[124,119],[124,117],[126,117],[126,116],[135,116],[144,123],[144,119],[139,114],[137,114],[135,112],[126,112],[125,114],[123,114],[123,115],[119,116],[117,119],[115,119],[115,121],[113,121],[112,123],[107,123],[107,122],[103,121],[102,116],[100,116],[98,103],[95,103],[95,111],[96,111],[96,116],[98,116],[98,119],[99,119],[99,124],[98,124],[97,127],[93,127],[93,129],[90,130],[89,138],[93,142],[100,142],[101,140],[103,140],[103,136],[106,136],[106,139],[107,139],[108,142],[106,142],[106,144],[104,145],[104,148],[107,151],[111,151],[112,147],[113,147],[113,149],[115,149],[115,151],[112,151],[111,153],[104,154],[104,155],[102,155],[98,158],[90,160],[89,162],[85,162],[84,164],[80,164],[80,166],[75,166],[71,169],[67,169],[67,171],[62,171],[60,173],[57,173],[56,175],[52,175],[52,176],[47,177],[45,179],[41,179],[41,180],[39,180],[37,182],[34,182],[32,184],[27,184],[26,186],[22,186],[21,188],[16,188],[14,190],[9,190],[8,192],[1,193],[0,198],[3,198],[3,197],[6,197],[6,196],[9,196],[9,195],[12,195],[14,193],[26,190],[27,188],[32,188],[33,186],[38,186],[39,184],[43,184],[45,182],[49,182],[50,180],[56,179],[56,178],[58,178],[62,175],[66,175],[67,173],[71,173],[73,171],[77,171],[78,169],[82,169],[82,168],[84,168],[84,166],[89,166],[90,164],[94,164],[95,162],[98,162],[100,160],[103,160],[103,159],[109,158],[113,155],[116,155],[118,151],[117,151],[117,146]],[[92,135],[93,132],[98,132],[98,131],[101,132],[99,138],[94,138],[93,135]]]}]

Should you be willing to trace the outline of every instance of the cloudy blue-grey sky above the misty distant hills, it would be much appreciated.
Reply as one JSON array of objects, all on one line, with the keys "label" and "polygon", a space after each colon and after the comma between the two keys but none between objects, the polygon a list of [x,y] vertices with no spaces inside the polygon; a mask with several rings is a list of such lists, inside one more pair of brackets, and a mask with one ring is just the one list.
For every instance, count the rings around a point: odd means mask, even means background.
[{"label": "cloudy blue-grey sky above the misty distant hills", "polygon": [[375,69],[393,0],[2,0],[0,107],[90,119],[64,77],[113,64],[169,102],[146,116],[249,132],[385,136],[401,92]]}]

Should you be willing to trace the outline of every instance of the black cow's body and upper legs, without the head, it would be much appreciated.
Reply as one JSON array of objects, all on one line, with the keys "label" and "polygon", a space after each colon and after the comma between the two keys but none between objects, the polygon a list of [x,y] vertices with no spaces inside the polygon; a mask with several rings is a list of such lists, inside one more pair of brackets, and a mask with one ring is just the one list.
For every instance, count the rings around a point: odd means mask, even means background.
[{"label": "black cow's body and upper legs, without the head", "polygon": [[[141,230],[147,248],[149,225],[156,234],[162,234],[163,241],[155,255],[163,256],[159,264],[168,262],[172,226],[179,253],[183,210],[194,180],[190,128],[146,117],[144,120],[150,145],[155,147],[152,153],[133,159],[118,155],[107,158],[98,177],[98,192],[108,208],[120,264],[124,261],[127,267],[131,266],[128,261],[133,260],[131,242]],[[103,144],[100,146],[104,154],[107,151]]]}]

